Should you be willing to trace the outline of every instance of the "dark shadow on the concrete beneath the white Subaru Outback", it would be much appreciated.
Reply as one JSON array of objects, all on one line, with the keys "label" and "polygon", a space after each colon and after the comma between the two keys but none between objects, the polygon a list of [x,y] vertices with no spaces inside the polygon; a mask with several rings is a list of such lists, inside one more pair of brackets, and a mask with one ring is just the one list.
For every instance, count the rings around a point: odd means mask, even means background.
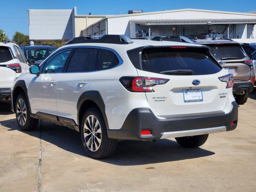
[{"label": "dark shadow on the concrete beneath the white Subaru Outback", "polygon": [[[42,140],[63,150],[90,158],[84,151],[80,133],[75,130],[42,120],[40,120],[36,130],[28,132],[18,128],[15,118],[0,121],[0,124],[8,128],[8,131],[18,130],[37,138],[40,138],[41,135]],[[40,131],[42,131],[42,134],[40,134]],[[42,147],[44,148],[44,146]],[[110,158],[99,161],[119,166],[132,166],[199,158],[213,154],[214,152],[202,148],[183,148],[177,142],[168,139],[156,142],[124,140],[118,142],[116,152]]]}]

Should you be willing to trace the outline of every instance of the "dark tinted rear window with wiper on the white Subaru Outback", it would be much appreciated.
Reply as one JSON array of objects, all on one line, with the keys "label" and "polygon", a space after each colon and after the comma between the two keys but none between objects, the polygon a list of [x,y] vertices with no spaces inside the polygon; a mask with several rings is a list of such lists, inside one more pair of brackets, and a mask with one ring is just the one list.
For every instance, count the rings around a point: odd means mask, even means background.
[{"label": "dark tinted rear window with wiper on the white Subaru Outback", "polygon": [[148,72],[193,71],[190,75],[214,74],[222,69],[205,48],[148,48],[142,51],[141,65]]}]

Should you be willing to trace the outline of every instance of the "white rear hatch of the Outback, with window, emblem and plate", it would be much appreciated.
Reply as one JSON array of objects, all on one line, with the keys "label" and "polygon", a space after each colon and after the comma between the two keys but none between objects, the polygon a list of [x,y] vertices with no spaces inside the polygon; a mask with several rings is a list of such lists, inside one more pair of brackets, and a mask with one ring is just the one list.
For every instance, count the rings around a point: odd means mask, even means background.
[{"label": "white rear hatch of the Outback, with window, emblem and plate", "polygon": [[227,72],[208,48],[151,47],[142,50],[140,58],[139,76],[168,80],[153,86],[154,92],[145,92],[157,116],[175,118],[184,114],[224,113],[227,83],[221,82],[219,77]]}]

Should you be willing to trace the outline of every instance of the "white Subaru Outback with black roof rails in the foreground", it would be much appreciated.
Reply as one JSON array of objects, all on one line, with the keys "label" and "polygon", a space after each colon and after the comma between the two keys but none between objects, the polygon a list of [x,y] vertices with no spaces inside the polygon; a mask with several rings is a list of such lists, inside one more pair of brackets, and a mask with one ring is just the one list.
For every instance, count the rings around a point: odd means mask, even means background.
[{"label": "white Subaru Outback with black roof rails in the foreground", "polygon": [[38,119],[67,126],[91,157],[106,158],[118,140],[176,138],[194,148],[234,130],[233,84],[207,46],[79,37],[16,80],[12,108],[22,130]]}]

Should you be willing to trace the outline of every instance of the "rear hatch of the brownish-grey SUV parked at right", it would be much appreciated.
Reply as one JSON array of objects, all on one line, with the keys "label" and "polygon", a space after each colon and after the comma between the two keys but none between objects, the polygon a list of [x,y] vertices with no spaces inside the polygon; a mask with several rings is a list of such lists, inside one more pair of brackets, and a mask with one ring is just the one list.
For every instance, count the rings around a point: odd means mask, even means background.
[{"label": "rear hatch of the brownish-grey SUV parked at right", "polygon": [[210,52],[222,67],[234,75],[235,81],[251,79],[251,68],[246,64],[250,58],[240,44],[210,44]]}]

